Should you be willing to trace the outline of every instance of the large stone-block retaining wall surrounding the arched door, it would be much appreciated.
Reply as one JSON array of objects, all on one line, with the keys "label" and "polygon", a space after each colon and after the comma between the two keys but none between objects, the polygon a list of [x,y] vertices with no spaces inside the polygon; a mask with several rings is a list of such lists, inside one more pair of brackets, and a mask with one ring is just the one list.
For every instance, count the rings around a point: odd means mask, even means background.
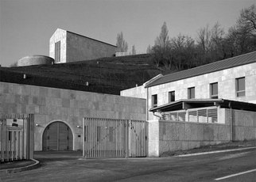
[{"label": "large stone-block retaining wall surrounding the arched door", "polygon": [[131,97],[0,82],[1,114],[34,114],[35,150],[42,150],[45,127],[54,121],[68,124],[74,150],[82,148],[83,117],[145,120],[145,100]]}]

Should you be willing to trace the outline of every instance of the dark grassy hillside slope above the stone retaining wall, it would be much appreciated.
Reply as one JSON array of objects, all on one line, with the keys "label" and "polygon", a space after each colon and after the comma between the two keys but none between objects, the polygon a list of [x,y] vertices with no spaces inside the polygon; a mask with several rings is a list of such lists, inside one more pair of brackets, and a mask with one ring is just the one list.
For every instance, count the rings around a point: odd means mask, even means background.
[{"label": "dark grassy hillside slope above the stone retaining wall", "polygon": [[[26,74],[26,79],[23,78]],[[0,81],[119,95],[160,71],[150,55],[130,55],[76,63],[0,67]],[[87,85],[87,82],[89,85]]]}]

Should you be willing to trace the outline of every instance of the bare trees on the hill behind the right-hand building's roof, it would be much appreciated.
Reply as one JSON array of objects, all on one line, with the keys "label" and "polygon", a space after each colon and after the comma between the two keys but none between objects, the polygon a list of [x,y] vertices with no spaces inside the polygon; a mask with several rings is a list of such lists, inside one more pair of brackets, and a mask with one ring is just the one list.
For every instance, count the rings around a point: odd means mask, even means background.
[{"label": "bare trees on the hill behind the right-hand building's roof", "polygon": [[169,37],[166,23],[161,27],[153,47],[147,53],[161,70],[184,70],[221,59],[256,51],[256,9],[252,5],[242,9],[235,25],[227,33],[219,23],[200,28],[196,39],[181,33]]}]

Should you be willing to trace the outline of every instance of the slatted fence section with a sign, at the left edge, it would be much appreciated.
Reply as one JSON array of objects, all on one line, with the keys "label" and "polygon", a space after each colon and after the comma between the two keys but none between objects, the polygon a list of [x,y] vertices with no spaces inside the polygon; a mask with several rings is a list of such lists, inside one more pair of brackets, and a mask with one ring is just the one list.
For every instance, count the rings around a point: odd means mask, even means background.
[{"label": "slatted fence section with a sign, at the left edge", "polygon": [[33,115],[0,117],[0,161],[33,158]]}]

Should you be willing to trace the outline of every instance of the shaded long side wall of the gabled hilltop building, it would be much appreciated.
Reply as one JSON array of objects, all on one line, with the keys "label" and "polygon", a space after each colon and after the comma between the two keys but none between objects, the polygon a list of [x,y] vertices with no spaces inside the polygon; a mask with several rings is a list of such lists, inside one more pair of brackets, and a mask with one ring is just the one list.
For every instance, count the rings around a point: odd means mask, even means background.
[{"label": "shaded long side wall of the gabled hilltop building", "polygon": [[67,62],[113,57],[116,47],[72,32],[67,34]]}]

